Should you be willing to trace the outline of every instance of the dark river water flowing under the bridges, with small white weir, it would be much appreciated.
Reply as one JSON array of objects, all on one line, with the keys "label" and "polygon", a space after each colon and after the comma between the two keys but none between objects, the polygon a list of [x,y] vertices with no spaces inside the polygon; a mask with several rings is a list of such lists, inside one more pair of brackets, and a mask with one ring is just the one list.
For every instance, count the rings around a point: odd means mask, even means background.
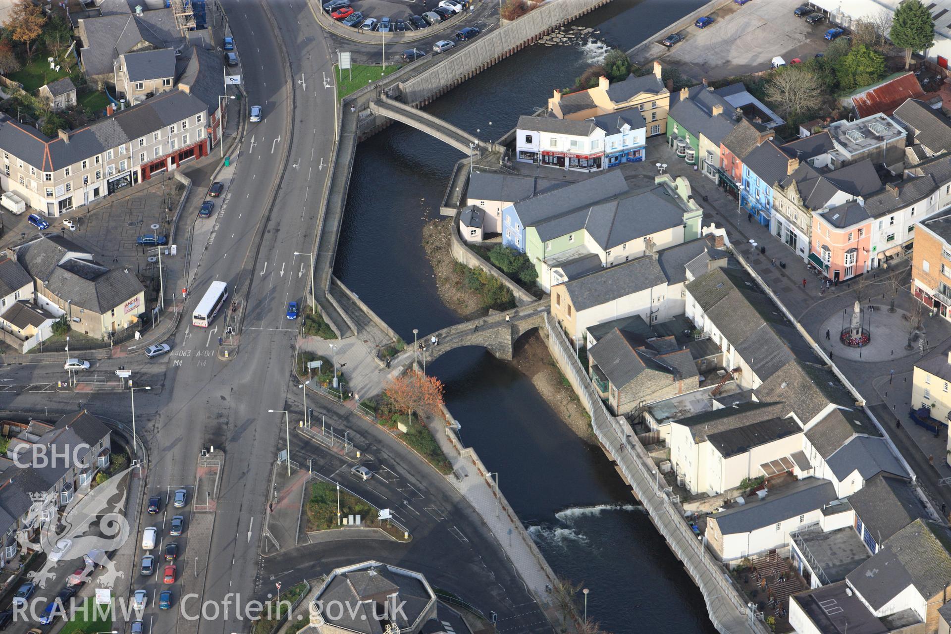
[{"label": "dark river water flowing under the bridges, with small white weir", "polygon": [[[614,0],[573,23],[599,30],[599,41],[525,48],[427,111],[495,139],[599,62],[604,43],[631,48],[703,4]],[[405,125],[357,150],[335,273],[406,340],[414,328],[431,333],[459,321],[439,300],[421,246],[459,158]],[[463,441],[500,471],[500,489],[555,573],[591,590],[592,620],[615,634],[715,632],[699,590],[611,463],[559,420],[531,380],[477,348],[443,355],[428,370],[445,382]]]}]

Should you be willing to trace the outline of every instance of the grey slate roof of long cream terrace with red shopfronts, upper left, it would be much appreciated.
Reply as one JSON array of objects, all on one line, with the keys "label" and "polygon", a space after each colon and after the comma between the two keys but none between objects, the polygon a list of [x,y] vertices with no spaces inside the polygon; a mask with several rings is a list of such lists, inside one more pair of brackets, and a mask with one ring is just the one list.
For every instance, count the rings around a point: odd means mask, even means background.
[{"label": "grey slate roof of long cream terrace with red shopfronts, upper left", "polygon": [[55,171],[206,110],[207,106],[197,97],[172,90],[73,130],[69,143],[59,137],[49,139],[35,127],[18,124],[4,115],[0,117],[0,147],[40,171]]}]

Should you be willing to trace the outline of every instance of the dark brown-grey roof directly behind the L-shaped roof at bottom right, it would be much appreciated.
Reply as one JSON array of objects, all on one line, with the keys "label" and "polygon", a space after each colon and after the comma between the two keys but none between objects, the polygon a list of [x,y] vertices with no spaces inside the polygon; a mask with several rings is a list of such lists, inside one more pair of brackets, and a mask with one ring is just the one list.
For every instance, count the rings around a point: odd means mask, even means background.
[{"label": "dark brown-grey roof directly behind the L-shaped roof at bottom right", "polygon": [[891,473],[873,475],[848,501],[879,545],[915,520],[928,519],[911,481]]}]

